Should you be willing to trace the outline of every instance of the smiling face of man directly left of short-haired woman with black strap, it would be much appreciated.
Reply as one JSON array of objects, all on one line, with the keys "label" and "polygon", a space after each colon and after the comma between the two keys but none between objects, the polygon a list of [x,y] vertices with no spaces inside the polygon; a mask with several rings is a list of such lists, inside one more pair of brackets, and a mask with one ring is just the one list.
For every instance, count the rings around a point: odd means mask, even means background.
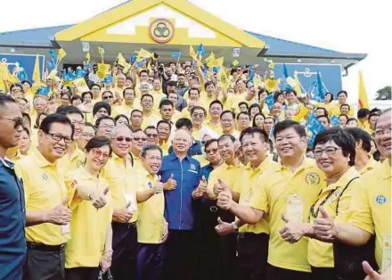
[{"label": "smiling face of man directly left of short-haired woman with black strap", "polygon": [[300,158],[306,148],[306,137],[300,137],[294,128],[286,128],[276,135],[275,147],[282,160]]}]

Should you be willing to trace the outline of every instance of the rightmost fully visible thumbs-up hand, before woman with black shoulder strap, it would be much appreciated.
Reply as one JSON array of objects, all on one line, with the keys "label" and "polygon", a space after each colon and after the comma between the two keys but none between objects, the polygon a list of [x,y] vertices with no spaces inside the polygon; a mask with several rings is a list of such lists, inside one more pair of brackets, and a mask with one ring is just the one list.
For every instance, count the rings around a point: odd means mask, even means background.
[{"label": "rightmost fully visible thumbs-up hand, before woman with black shoulder strap", "polygon": [[338,235],[338,225],[327,210],[320,206],[321,217],[314,219],[314,235],[323,242],[333,242]]}]

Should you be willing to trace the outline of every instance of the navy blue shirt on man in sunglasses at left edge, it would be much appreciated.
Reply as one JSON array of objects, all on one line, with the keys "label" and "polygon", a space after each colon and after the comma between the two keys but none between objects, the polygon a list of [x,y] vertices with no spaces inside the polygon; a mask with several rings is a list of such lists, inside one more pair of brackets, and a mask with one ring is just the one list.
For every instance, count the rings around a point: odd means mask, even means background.
[{"label": "navy blue shirt on man in sunglasses at left edge", "polygon": [[0,159],[0,280],[20,280],[26,257],[23,185],[11,161]]}]

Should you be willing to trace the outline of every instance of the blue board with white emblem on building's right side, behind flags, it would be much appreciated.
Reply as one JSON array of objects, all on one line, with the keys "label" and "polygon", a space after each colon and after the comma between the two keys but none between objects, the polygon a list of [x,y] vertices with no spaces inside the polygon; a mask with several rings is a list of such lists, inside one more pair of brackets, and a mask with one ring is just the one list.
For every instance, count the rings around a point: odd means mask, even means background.
[{"label": "blue board with white emblem on building's right side, behind flags", "polygon": [[[294,71],[298,73],[298,79],[302,86],[302,91],[306,93],[314,88],[314,82],[317,78],[317,71],[320,72],[323,87],[327,92],[331,92],[335,97],[342,89],[341,79],[341,65],[340,64],[301,64],[301,63],[286,63],[286,69],[289,76],[294,78]],[[283,77],[283,64],[275,63],[274,67],[275,78]]]}]

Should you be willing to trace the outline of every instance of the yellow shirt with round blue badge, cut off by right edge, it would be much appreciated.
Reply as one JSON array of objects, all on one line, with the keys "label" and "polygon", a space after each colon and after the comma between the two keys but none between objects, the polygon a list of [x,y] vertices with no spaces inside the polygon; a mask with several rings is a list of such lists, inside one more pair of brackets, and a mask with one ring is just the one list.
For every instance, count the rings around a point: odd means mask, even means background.
[{"label": "yellow shirt with round blue badge, cut off by right edge", "polygon": [[348,223],[376,235],[376,260],[381,271],[385,271],[390,264],[392,243],[390,159],[363,175],[361,182],[362,187],[351,200]]}]

